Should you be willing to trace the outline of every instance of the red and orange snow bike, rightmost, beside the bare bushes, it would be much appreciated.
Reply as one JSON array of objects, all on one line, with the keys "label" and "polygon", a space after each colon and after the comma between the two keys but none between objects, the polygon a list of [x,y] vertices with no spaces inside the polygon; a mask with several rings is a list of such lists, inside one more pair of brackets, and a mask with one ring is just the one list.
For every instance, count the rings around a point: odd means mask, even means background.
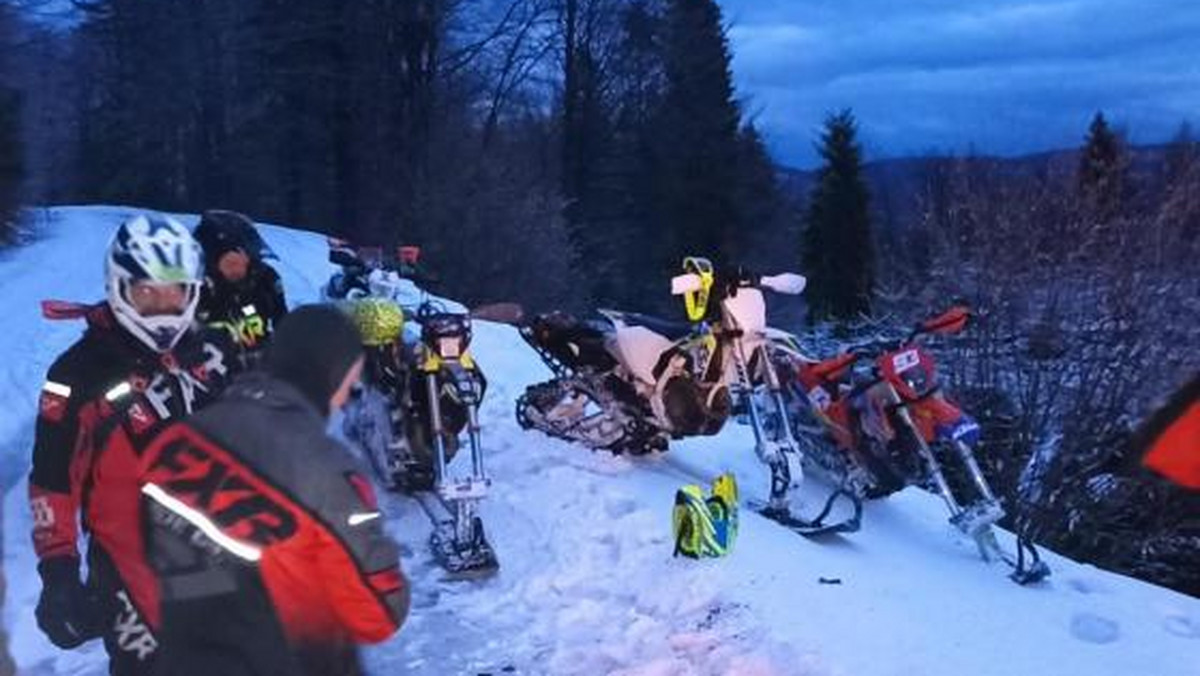
[{"label": "red and orange snow bike, rightmost, beside the bare bushes", "polygon": [[[918,342],[956,334],[968,318],[966,307],[953,307],[904,340],[858,346],[821,361],[792,360],[788,408],[797,430],[818,437],[806,437],[812,443],[805,456],[840,477],[847,490],[878,498],[910,485],[926,487],[985,561],[1003,560],[1014,568],[1014,580],[1034,582],[1050,570],[1033,544],[1019,537],[1013,558],[992,530],[1004,509],[974,455],[979,424],[946,395],[932,355]],[[952,485],[949,463],[965,478],[958,483],[967,485]]]}]

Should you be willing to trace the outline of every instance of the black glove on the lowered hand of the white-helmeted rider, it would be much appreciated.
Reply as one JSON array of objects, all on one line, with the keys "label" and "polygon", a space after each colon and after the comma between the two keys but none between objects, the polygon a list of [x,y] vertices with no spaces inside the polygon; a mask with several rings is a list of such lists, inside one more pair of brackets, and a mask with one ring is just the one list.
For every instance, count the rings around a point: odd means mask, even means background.
[{"label": "black glove on the lowered hand of the white-helmeted rider", "polygon": [[37,599],[37,627],[50,642],[71,650],[100,636],[98,599],[79,581],[79,560],[55,556],[37,564],[42,596]]}]

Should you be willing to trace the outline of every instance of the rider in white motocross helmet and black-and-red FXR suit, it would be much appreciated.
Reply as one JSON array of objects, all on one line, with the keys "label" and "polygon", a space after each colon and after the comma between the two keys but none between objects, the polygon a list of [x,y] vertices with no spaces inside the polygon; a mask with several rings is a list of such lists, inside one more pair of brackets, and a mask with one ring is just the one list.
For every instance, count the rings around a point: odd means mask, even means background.
[{"label": "rider in white motocross helmet and black-and-red FXR suit", "polygon": [[115,675],[149,674],[157,647],[157,584],[137,527],[140,449],[229,375],[228,337],[193,328],[202,274],[179,222],[122,222],[104,259],[107,300],[85,310],[86,331],[42,387],[29,477],[37,624],[61,648],[102,638]]}]

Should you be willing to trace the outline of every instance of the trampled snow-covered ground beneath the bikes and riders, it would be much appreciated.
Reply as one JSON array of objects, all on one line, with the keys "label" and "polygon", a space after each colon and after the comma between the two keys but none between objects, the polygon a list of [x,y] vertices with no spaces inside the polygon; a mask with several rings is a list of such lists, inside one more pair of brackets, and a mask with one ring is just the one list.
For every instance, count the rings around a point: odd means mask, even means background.
[{"label": "trampled snow-covered ground beneath the bikes and riders", "polygon": [[[101,252],[127,213],[42,210],[41,237],[0,255],[4,623],[23,674],[106,671],[98,642],[61,652],[36,628],[24,474],[41,379],[80,330],[41,319],[38,301],[98,299]],[[316,299],[331,271],[323,238],[264,235],[289,300]],[[732,469],[744,497],[766,492],[749,431],[730,426],[648,460],[522,431],[514,400],[548,371],[511,328],[480,323],[475,335],[491,382],[482,420],[494,492],[484,518],[502,572],[443,581],[422,513],[390,499],[414,609],[368,651],[372,674],[1200,676],[1200,600],[1052,554],[1048,582],[1018,587],[955,536],[936,498],[913,490],[868,505],[862,532],[820,542],[743,512],[730,557],[674,560],[682,484]],[[823,489],[805,489],[811,512]]]}]

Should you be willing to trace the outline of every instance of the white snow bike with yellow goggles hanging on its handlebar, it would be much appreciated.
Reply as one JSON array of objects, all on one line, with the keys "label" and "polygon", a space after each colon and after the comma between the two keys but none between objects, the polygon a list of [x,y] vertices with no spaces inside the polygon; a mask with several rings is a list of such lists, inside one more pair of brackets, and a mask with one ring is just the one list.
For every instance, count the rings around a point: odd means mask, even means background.
[{"label": "white snow bike with yellow goggles hanging on its handlebar", "polygon": [[[788,507],[800,457],[774,369],[779,331],[767,327],[763,289],[798,294],[804,277],[739,270],[718,281],[701,258],[686,259],[684,270],[672,293],[684,298],[690,324],[601,310],[599,319],[550,313],[522,327],[554,377],[526,389],[518,423],[592,449],[642,454],[666,450],[673,438],[715,435],[738,411],[770,468],[770,496],[760,512],[802,534],[857,530],[860,503],[844,491],[829,496],[814,520]],[[854,502],[853,515],[827,524],[838,497]]]}]

